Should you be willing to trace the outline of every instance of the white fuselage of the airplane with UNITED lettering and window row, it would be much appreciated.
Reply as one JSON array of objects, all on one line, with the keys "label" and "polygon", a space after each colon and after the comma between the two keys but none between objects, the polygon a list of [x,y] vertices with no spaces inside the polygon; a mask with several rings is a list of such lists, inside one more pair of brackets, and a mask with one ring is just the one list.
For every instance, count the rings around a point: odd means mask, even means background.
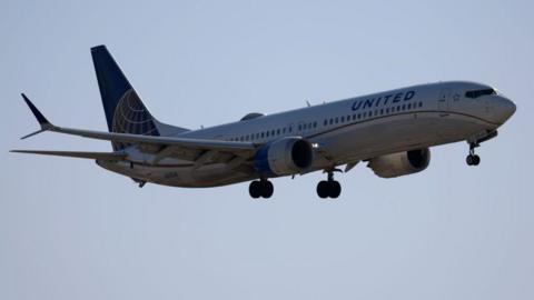
[{"label": "white fuselage of the airplane with UNITED lettering and window row", "polygon": [[[494,131],[511,112],[502,94],[466,97],[491,89],[474,82],[413,86],[178,134],[184,138],[268,143],[281,137],[303,137],[316,147],[312,172],[384,154],[477,139]],[[510,102],[510,103],[508,103]],[[513,106],[513,103],[512,103]],[[515,107],[514,107],[515,110]],[[258,178],[226,163],[200,167],[191,160],[165,158],[136,148],[127,160],[99,166],[135,179],[176,187],[215,187]],[[230,167],[229,167],[230,166]],[[303,173],[304,173],[303,172]]]}]

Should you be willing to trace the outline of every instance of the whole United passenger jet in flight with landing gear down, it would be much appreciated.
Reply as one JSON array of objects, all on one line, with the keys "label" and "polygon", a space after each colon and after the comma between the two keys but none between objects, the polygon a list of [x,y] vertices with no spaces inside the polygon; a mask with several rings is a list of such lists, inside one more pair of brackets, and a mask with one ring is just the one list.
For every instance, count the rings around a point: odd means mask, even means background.
[{"label": "whole United passenger jet in flight with landing gear down", "polygon": [[[106,46],[91,48],[108,132],[52,124],[22,93],[44,131],[110,141],[110,152],[11,150],[96,160],[112,172],[146,182],[207,188],[251,181],[251,198],[270,198],[269,179],[314,171],[319,198],[338,198],[335,172],[366,162],[380,178],[421,172],[431,147],[466,141],[468,166],[475,148],[497,136],[516,106],[495,88],[468,81],[412,86],[198,130],[158,121],[142,103]],[[345,166],[342,170],[340,166]]]}]

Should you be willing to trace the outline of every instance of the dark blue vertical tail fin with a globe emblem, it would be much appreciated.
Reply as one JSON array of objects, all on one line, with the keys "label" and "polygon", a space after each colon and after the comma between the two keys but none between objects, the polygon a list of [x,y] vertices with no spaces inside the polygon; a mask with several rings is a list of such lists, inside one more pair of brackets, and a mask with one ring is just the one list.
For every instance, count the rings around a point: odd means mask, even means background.
[{"label": "dark blue vertical tail fin with a globe emblem", "polygon": [[[141,102],[106,46],[91,48],[98,87],[110,132],[160,136],[157,120]],[[113,150],[128,144],[112,142]]]}]

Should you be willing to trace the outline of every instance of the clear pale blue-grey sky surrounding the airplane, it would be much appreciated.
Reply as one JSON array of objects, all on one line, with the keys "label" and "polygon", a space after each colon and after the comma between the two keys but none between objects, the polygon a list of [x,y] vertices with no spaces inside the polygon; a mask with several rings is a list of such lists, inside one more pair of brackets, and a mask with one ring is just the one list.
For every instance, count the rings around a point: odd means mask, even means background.
[{"label": "clear pale blue-grey sky surrounding the airplane", "polygon": [[[533,299],[534,2],[13,1],[0,3],[0,299]],[[139,1],[141,2],[141,1]],[[517,111],[465,164],[433,148],[424,172],[180,189],[90,160],[42,133],[107,130],[90,47],[106,44],[151,113],[187,128],[409,84],[473,80]]]}]

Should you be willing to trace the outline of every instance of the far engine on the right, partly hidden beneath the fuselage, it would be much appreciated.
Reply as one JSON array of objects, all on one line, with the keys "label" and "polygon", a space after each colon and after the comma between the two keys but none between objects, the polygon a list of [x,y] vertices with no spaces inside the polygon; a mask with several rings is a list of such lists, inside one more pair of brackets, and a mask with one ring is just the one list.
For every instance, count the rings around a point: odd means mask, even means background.
[{"label": "far engine on the right, partly hidden beneath the fuselage", "polygon": [[431,150],[425,148],[377,157],[370,159],[367,167],[378,177],[393,178],[421,172],[429,162]]}]

